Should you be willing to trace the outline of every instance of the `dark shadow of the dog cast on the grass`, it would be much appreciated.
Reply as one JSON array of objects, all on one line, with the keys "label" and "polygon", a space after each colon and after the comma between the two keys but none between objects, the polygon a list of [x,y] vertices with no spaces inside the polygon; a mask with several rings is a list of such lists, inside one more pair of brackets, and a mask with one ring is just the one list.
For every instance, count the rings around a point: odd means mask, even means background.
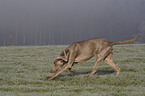
[{"label": "dark shadow of the dog cast on the grass", "polygon": [[[59,77],[75,77],[75,76],[81,76],[81,75],[89,75],[89,73],[91,73],[91,71],[87,71],[87,72],[76,72],[76,73],[69,73],[69,74],[65,74],[65,75],[59,75],[56,78]],[[98,74],[98,75],[108,75],[108,74],[114,74],[115,71],[114,70],[97,70],[94,74]]]}]

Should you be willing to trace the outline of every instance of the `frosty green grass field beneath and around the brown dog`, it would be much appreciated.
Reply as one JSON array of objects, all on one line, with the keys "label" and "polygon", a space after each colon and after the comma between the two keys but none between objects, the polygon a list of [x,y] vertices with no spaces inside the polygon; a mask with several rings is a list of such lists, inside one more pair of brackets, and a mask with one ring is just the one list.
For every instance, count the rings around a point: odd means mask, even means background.
[{"label": "frosty green grass field beneath and around the brown dog", "polygon": [[0,96],[145,96],[145,45],[114,46],[112,67],[101,62],[91,77],[95,57],[47,81],[53,60],[66,46],[0,47]]}]

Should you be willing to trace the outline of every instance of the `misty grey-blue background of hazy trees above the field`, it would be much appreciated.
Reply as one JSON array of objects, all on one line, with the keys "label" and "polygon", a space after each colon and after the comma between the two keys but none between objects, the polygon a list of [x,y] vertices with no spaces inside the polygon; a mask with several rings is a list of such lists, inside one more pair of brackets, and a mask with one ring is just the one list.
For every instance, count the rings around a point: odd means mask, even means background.
[{"label": "misty grey-blue background of hazy trees above the field", "polygon": [[145,0],[0,0],[0,46],[137,35],[145,43]]}]

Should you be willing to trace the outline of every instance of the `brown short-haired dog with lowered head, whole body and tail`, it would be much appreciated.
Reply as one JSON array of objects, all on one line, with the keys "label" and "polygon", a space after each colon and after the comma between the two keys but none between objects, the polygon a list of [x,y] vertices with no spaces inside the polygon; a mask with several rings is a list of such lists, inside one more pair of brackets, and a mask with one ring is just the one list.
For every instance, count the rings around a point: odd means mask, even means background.
[{"label": "brown short-haired dog with lowered head, whole body and tail", "polygon": [[[51,72],[55,73],[51,77],[46,77],[47,80],[51,80],[66,69],[69,69],[71,72],[76,72],[72,69],[72,66],[78,62],[86,61],[97,54],[96,63],[92,72],[88,75],[90,77],[93,75],[99,63],[104,60],[107,64],[112,66],[116,70],[116,76],[119,75],[120,68],[117,67],[112,61],[113,55],[113,45],[124,44],[136,41],[140,36],[137,36],[133,40],[127,40],[122,42],[109,42],[102,38],[94,38],[85,41],[75,42],[68,46],[64,51],[61,52],[60,57],[57,57],[54,61],[53,68]],[[61,69],[62,68],[62,69]]]}]

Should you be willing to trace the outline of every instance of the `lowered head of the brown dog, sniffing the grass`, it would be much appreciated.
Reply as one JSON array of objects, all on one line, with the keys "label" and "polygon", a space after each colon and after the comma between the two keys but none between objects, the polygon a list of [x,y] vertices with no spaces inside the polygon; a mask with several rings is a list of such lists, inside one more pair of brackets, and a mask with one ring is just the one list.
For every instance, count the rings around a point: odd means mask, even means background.
[{"label": "lowered head of the brown dog, sniffing the grass", "polygon": [[62,58],[56,58],[54,60],[53,68],[51,69],[50,72],[56,73],[60,68],[63,67],[64,64],[66,64],[67,61],[62,59]]}]

